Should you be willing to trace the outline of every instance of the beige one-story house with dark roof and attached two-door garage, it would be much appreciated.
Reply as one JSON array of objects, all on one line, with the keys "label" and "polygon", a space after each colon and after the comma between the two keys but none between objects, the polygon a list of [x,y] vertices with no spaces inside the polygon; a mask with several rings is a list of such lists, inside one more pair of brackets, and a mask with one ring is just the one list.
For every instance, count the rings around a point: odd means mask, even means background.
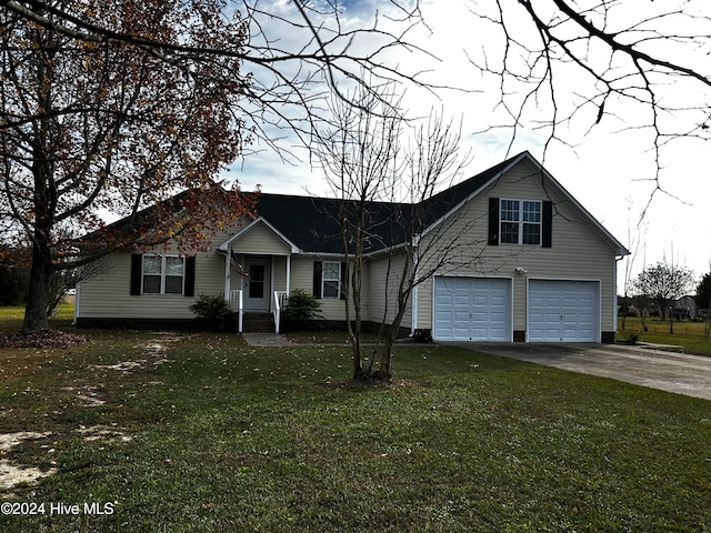
[{"label": "beige one-story house with dark roof and attached two-door garage", "polygon": [[[256,217],[213,237],[206,253],[116,252],[107,261],[110,270],[78,288],[77,323],[188,321],[198,294],[223,294],[239,311],[242,331],[250,313],[276,314],[278,323],[283,296],[294,289],[311,291],[323,316],[342,322],[343,243],[329,215],[339,205],[261,193]],[[421,207],[428,218],[418,245],[435,228],[450,228],[447,221],[457,222],[451,228],[469,222],[457,239],[471,245],[458,253],[470,250],[477,261],[442,266],[418,284],[402,326],[431,330],[439,341],[613,341],[617,261],[629,252],[529,152]],[[373,323],[394,309],[384,283],[387,252],[398,250],[404,231],[378,231],[395,208],[400,217],[413,212],[407,204],[370,209],[375,235],[368,242],[363,318]]]}]

